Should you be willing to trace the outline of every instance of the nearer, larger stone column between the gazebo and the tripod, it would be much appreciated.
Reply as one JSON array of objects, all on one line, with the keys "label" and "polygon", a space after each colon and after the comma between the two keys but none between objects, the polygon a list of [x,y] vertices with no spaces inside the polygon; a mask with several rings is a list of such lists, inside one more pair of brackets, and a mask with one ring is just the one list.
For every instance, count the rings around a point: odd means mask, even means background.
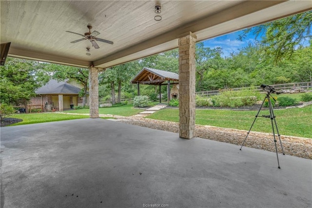
[{"label": "nearer, larger stone column between the gazebo and the tripod", "polygon": [[195,133],[195,43],[189,32],[179,38],[179,136],[192,139]]}]

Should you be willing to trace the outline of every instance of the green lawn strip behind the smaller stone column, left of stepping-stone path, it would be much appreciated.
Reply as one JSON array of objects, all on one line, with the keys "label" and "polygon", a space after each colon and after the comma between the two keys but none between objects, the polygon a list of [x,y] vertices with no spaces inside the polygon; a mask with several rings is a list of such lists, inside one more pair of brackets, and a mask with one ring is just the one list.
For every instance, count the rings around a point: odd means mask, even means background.
[{"label": "green lawn strip behind the smaller stone column, left of stepping-stone path", "polygon": [[[133,116],[137,115],[139,112],[144,111],[144,109],[133,108],[132,104],[126,104],[117,107],[100,107],[98,108],[99,114],[111,114],[117,116]],[[79,109],[79,110],[70,110],[65,111],[68,113],[90,113],[89,109]]]}]

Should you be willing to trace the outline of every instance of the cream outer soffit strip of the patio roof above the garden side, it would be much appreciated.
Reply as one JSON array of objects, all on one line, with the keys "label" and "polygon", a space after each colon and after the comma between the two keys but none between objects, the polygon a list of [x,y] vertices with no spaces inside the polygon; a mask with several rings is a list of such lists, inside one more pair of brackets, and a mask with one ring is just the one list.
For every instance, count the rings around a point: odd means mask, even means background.
[{"label": "cream outer soffit strip of the patio roof above the garden side", "polygon": [[[203,30],[199,31],[191,30],[191,32],[194,32],[194,34],[197,36],[197,42],[199,42],[215,38],[220,35],[228,34],[234,31],[256,26],[265,22],[288,17],[293,14],[309,11],[311,9],[312,9],[312,0],[289,0],[230,21],[225,21],[216,24]],[[218,14],[215,15],[218,16]],[[198,21],[209,21],[209,17],[205,18],[204,20]],[[113,58],[112,61],[110,61],[109,58],[107,59],[104,58],[105,60],[107,60],[105,63],[101,63],[101,61],[95,63],[97,63],[98,67],[100,68],[108,68],[121,63],[154,55],[163,51],[175,49],[177,47],[178,47],[178,39],[175,39],[169,42],[161,43],[156,46],[151,46],[150,48],[140,50],[138,52],[131,53],[129,55],[122,56],[122,58],[115,57],[115,59]]]}]

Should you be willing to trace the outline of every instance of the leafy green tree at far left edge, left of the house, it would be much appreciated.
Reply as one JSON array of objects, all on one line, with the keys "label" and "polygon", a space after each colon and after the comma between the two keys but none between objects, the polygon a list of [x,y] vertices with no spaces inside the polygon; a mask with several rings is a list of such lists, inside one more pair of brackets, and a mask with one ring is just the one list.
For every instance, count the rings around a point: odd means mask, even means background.
[{"label": "leafy green tree at far left edge, left of the house", "polygon": [[0,70],[1,103],[22,104],[27,109],[31,97],[36,96],[35,90],[49,80],[44,69],[45,63],[7,58]]}]

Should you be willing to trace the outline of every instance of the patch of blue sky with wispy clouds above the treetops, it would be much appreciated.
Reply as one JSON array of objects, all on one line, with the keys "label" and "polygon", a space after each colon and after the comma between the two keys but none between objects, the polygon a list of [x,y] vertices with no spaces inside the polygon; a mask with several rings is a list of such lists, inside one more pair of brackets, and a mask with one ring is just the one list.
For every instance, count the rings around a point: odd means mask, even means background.
[{"label": "patch of blue sky with wispy clouds above the treetops", "polygon": [[238,49],[247,46],[248,42],[254,42],[254,35],[252,33],[249,33],[243,41],[238,40],[239,34],[242,34],[242,31],[204,41],[204,46],[210,48],[221,47],[223,52],[222,56],[230,56],[231,53],[238,52]]}]

